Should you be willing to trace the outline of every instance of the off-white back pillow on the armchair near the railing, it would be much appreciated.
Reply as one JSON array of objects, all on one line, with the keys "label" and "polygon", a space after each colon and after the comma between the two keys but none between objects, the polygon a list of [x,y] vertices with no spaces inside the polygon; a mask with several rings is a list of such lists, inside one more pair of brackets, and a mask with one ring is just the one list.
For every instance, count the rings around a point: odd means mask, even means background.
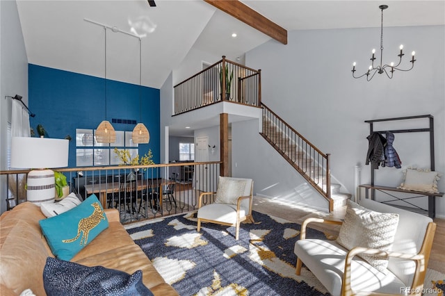
[{"label": "off-white back pillow on the armchair near the railing", "polygon": [[236,180],[219,176],[215,202],[218,204],[236,204],[238,197],[244,195],[245,180]]}]

